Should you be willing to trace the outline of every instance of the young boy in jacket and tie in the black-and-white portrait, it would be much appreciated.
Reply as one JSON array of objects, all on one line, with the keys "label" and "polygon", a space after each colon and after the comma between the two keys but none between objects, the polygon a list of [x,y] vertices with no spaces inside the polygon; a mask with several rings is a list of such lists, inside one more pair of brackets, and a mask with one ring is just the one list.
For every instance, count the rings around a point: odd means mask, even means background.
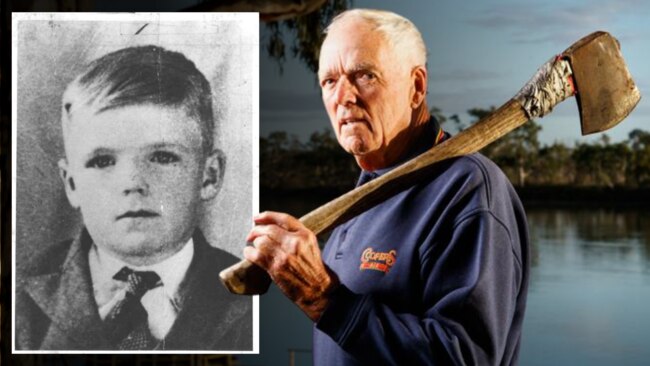
[{"label": "young boy in jacket and tie in the black-and-white portrait", "polygon": [[197,229],[225,157],[210,85],[184,55],[130,47],[92,62],[62,103],[60,175],[85,228],[16,295],[17,350],[251,350],[251,300],[218,283],[237,258]]}]

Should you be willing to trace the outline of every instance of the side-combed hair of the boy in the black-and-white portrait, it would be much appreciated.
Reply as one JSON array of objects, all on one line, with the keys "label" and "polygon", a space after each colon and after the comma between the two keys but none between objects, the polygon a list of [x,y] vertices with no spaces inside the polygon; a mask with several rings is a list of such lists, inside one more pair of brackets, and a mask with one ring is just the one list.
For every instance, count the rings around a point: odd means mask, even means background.
[{"label": "side-combed hair of the boy in the black-and-white portrait", "polygon": [[63,134],[75,111],[93,113],[154,104],[184,108],[201,126],[203,148],[213,148],[212,92],[205,76],[183,54],[160,46],[124,48],[91,62],[63,94]]}]

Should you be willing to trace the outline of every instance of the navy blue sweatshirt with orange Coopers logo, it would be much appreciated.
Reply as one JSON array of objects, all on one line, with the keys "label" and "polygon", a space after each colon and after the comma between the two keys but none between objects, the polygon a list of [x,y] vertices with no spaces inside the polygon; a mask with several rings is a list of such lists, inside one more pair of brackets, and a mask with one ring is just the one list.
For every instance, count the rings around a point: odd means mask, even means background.
[{"label": "navy blue sweatshirt with orange Coopers logo", "polygon": [[[411,156],[433,145],[429,129]],[[516,364],[528,252],[524,210],[494,163],[438,163],[332,233],[323,260],[342,285],[314,327],[314,365]]]}]

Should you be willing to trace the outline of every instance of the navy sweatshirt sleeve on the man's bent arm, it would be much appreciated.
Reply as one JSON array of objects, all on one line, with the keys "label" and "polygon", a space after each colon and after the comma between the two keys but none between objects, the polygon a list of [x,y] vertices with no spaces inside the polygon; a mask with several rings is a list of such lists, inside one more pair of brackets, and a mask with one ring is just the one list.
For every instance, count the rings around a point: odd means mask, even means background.
[{"label": "navy sweatshirt sleeve on the man's bent arm", "polygon": [[508,227],[481,210],[445,241],[420,251],[420,311],[340,286],[316,327],[364,364],[501,364],[522,282]]}]

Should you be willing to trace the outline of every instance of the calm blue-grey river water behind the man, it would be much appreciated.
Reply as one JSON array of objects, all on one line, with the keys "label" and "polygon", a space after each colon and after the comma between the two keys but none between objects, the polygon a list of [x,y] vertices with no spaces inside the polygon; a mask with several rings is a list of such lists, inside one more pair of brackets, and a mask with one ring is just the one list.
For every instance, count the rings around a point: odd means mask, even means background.
[{"label": "calm blue-grey river water behind the man", "polygon": [[[650,364],[650,209],[529,208],[531,277],[521,365]],[[273,286],[261,356],[311,365],[311,324]],[[292,356],[293,355],[293,356]]]}]

